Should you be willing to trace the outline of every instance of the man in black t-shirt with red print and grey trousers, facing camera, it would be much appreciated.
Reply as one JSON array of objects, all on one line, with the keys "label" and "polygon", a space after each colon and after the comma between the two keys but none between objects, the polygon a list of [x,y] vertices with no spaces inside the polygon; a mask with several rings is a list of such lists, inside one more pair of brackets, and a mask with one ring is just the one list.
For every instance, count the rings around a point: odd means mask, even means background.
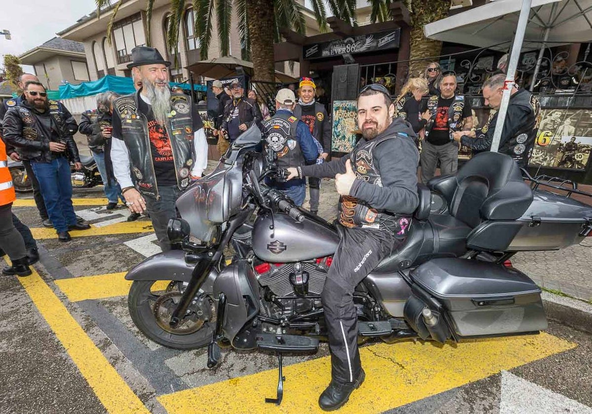
[{"label": "man in black t-shirt with red print and grey trousers, facing camera", "polygon": [[432,179],[438,161],[442,175],[456,172],[458,144],[453,141],[452,132],[470,130],[473,126],[471,105],[464,96],[456,95],[455,90],[456,74],[444,72],[440,81],[440,95],[430,96],[422,108],[422,118],[427,121],[426,138],[420,156],[423,183]]}]

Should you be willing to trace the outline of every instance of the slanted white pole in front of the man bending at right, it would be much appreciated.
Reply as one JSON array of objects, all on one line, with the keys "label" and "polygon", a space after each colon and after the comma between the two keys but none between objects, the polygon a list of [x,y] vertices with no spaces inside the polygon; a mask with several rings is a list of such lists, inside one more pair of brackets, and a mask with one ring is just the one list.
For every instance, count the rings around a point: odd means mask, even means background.
[{"label": "slanted white pole in front of the man bending at right", "polygon": [[526,31],[526,24],[528,23],[531,4],[532,0],[522,0],[522,9],[520,9],[520,18],[518,19],[518,25],[516,26],[516,35],[514,35],[510,62],[508,63],[506,83],[504,84],[500,110],[497,115],[496,131],[493,135],[493,141],[491,141],[491,151],[496,153],[500,147],[501,130],[504,128],[508,103],[510,102],[510,95],[512,88],[514,87],[514,73],[516,73],[516,68],[518,67],[518,59],[520,57],[520,50],[522,50],[522,42],[524,41],[524,33]]}]

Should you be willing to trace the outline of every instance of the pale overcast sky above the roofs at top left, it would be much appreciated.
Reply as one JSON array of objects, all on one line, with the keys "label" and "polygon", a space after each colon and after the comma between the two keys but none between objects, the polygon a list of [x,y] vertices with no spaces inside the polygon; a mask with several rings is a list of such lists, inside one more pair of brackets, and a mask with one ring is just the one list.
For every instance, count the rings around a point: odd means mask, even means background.
[{"label": "pale overcast sky above the roofs at top left", "polygon": [[18,56],[40,46],[95,9],[95,0],[0,0],[0,3],[0,31],[9,30],[12,36],[12,40],[6,40],[0,35],[0,66],[5,54]]}]

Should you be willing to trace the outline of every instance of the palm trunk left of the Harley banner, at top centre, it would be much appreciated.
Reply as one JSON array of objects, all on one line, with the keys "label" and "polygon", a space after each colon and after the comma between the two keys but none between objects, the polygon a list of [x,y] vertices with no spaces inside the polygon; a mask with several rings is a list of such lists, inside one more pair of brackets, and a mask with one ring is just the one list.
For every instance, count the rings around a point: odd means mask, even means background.
[{"label": "palm trunk left of the Harley banner, at top centre", "polygon": [[274,7],[269,0],[247,0],[253,80],[275,81]]}]

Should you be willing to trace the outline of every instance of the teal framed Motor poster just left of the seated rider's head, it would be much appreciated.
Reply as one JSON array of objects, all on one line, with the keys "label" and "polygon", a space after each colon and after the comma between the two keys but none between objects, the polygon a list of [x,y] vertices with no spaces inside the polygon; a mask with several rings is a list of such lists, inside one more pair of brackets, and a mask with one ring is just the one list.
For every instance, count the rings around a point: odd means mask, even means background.
[{"label": "teal framed Motor poster just left of the seated rider's head", "polygon": [[333,101],[331,150],[350,153],[356,145],[358,108],[356,101]]}]

